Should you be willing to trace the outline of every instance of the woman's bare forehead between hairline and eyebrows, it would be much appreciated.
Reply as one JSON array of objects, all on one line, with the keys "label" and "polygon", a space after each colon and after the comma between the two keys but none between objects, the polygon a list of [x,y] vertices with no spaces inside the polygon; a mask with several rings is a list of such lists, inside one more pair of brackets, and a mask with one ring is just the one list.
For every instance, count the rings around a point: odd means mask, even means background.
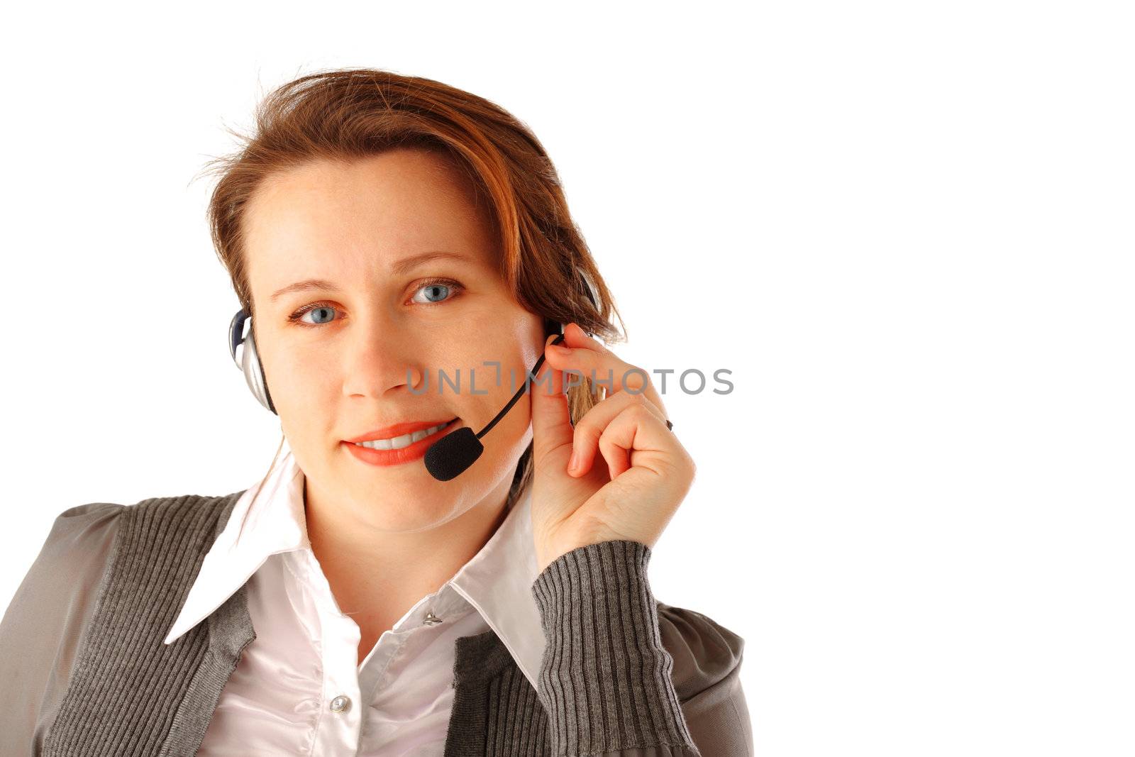
[{"label": "woman's bare forehead between hairline and eyebrows", "polygon": [[[272,174],[242,220],[253,288],[260,274],[274,280],[299,272],[330,277],[359,266],[388,269],[435,250],[465,253],[495,269],[489,213],[452,160],[398,149]],[[321,272],[310,270],[312,263],[321,263]]]}]

